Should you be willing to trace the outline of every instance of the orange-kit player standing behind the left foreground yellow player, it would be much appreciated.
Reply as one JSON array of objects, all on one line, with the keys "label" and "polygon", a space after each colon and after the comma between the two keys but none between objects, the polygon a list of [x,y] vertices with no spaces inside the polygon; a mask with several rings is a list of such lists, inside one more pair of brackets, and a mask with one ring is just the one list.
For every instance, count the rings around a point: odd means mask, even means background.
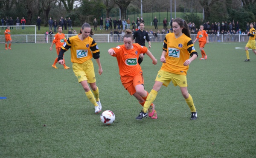
[{"label": "orange-kit player standing behind the left foreground yellow player", "polygon": [[[62,27],[61,27],[60,25],[58,25],[57,28],[58,28],[58,33],[55,34],[55,36],[54,36],[54,38],[53,38],[52,45],[51,45],[51,47],[50,47],[50,51],[52,51],[52,46],[53,46],[54,43],[55,43],[56,52],[57,52],[57,56],[58,56],[59,52],[61,51],[61,46],[64,44],[64,42],[67,41],[67,39],[66,39],[65,35],[62,34]],[[64,60],[64,57],[63,57],[63,60]],[[54,63],[53,63],[53,65],[52,65],[52,68],[57,68],[57,67],[56,67],[56,63],[57,63],[57,62],[58,62],[58,57],[55,58]],[[64,69],[69,69],[69,67],[67,67],[67,66],[65,65],[65,60],[64,60],[63,66],[64,66]]]}]

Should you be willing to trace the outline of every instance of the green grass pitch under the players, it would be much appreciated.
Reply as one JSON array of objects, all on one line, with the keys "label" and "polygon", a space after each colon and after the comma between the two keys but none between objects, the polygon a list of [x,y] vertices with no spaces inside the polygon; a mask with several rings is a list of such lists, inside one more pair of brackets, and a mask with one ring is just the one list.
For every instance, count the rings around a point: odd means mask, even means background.
[{"label": "green grass pitch under the players", "polygon": [[[207,60],[190,64],[188,90],[198,111],[190,110],[179,87],[162,87],[155,100],[158,119],[138,116],[141,105],[120,82],[116,58],[107,52],[118,43],[98,43],[102,75],[93,59],[102,110],[116,121],[105,126],[72,71],[51,67],[50,44],[0,46],[0,157],[243,157],[256,156],[256,56],[246,43],[209,43]],[[122,43],[119,43],[122,44]],[[152,43],[142,63],[145,90],[150,92],[161,67],[163,43]],[[239,47],[241,49],[236,49]]]}]

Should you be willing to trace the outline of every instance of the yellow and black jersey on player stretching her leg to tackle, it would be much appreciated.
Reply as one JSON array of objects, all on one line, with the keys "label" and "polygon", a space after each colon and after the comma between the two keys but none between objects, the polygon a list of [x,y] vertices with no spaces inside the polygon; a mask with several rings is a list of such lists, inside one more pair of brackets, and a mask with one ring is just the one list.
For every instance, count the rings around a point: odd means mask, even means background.
[{"label": "yellow and black jersey on player stretching her leg to tackle", "polygon": [[176,38],[174,33],[166,34],[163,41],[163,51],[166,51],[166,63],[163,63],[161,70],[170,73],[186,75],[189,66],[183,63],[189,59],[189,56],[197,54],[191,38],[185,34]]}]

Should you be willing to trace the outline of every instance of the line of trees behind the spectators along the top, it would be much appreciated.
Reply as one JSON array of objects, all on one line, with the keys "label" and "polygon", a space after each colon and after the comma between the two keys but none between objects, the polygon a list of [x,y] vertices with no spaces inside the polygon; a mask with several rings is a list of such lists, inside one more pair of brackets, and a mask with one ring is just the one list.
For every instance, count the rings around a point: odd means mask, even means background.
[{"label": "line of trees behind the spectators along the top", "polygon": [[[127,13],[140,15],[141,5],[143,13],[170,11],[171,1],[172,12],[183,12],[184,18],[198,24],[235,20],[245,25],[256,21],[256,0],[1,0],[0,16],[25,17],[28,25],[35,25],[38,16],[45,25],[49,17],[57,21],[70,17],[73,25],[92,25],[94,18],[119,17],[119,10],[121,19],[127,19]],[[204,18],[196,13],[204,13]]]}]

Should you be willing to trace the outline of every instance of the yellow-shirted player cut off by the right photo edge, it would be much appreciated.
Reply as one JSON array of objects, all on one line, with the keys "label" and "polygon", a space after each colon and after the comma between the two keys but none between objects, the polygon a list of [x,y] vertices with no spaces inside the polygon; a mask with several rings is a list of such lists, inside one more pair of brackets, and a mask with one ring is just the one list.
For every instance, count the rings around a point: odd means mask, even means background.
[{"label": "yellow-shirted player cut off by the right photo edge", "polygon": [[247,36],[249,36],[249,41],[247,42],[247,44],[245,45],[245,53],[246,53],[246,60],[244,60],[245,62],[250,61],[250,56],[249,56],[249,51],[248,49],[251,48],[253,50],[253,53],[256,54],[255,51],[255,29],[253,28],[253,23],[250,23],[250,31],[247,33]]}]

